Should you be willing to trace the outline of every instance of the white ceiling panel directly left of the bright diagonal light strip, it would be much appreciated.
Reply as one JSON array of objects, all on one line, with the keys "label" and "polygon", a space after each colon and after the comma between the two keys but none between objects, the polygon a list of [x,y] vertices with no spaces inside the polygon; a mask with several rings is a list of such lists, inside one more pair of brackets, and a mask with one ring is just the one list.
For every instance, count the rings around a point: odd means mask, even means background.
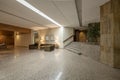
[{"label": "white ceiling panel directly left of the bright diagonal light strip", "polygon": [[21,5],[16,0],[8,0],[8,1],[0,0],[0,10],[4,10],[9,13],[15,14],[17,16],[29,19],[38,24],[42,24],[42,25],[51,24],[50,21],[48,21],[47,19],[44,19],[42,16],[36,14],[32,10]]}]

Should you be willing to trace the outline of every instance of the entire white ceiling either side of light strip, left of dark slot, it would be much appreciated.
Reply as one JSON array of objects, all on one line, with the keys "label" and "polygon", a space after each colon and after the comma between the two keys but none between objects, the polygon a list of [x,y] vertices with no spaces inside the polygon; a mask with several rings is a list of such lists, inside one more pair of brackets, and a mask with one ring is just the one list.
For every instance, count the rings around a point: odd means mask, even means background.
[{"label": "entire white ceiling either side of light strip, left of dark slot", "polygon": [[[75,0],[26,0],[64,27],[79,27]],[[16,0],[0,0],[0,23],[30,29],[58,27]]]}]

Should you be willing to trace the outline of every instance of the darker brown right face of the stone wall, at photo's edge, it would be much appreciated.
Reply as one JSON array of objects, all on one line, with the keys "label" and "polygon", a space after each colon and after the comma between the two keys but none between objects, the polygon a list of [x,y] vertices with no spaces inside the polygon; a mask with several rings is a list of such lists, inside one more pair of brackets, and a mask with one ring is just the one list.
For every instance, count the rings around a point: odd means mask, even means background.
[{"label": "darker brown right face of the stone wall, at photo's edge", "polygon": [[120,0],[112,0],[114,13],[114,67],[120,68]]}]

